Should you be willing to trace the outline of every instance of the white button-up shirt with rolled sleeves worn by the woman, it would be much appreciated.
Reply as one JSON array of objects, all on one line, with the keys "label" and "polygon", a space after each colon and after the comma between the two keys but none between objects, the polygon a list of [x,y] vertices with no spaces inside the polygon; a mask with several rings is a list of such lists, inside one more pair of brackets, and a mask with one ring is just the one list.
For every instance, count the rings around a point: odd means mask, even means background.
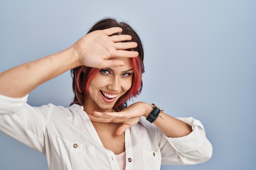
[{"label": "white button-up shirt with rolled sleeves worn by the woman", "polygon": [[[28,96],[28,95],[27,95]],[[119,170],[83,106],[29,106],[27,96],[0,95],[0,131],[42,152],[49,170]],[[193,131],[166,137],[144,117],[125,131],[126,170],[159,170],[161,164],[195,164],[210,159],[211,143],[200,121],[179,118]]]}]

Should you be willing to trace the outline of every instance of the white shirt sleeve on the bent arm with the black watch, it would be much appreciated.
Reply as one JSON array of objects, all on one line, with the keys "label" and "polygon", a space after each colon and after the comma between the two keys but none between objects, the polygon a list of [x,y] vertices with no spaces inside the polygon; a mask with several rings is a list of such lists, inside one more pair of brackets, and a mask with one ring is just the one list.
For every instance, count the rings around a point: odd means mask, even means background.
[{"label": "white shirt sleeve on the bent arm with the black watch", "polygon": [[212,145],[206,137],[201,122],[193,117],[177,119],[191,126],[192,132],[184,137],[171,138],[158,130],[162,164],[186,165],[203,163],[209,160],[212,155]]}]

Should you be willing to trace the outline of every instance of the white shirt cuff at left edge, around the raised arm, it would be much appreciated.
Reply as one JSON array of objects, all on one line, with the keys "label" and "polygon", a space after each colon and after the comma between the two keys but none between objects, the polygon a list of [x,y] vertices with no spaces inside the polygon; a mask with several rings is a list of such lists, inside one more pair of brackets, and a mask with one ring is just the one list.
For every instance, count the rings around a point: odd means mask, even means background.
[{"label": "white shirt cuff at left edge, around the raised arm", "polygon": [[24,97],[13,98],[0,94],[0,114],[10,114],[27,102],[28,94]]}]

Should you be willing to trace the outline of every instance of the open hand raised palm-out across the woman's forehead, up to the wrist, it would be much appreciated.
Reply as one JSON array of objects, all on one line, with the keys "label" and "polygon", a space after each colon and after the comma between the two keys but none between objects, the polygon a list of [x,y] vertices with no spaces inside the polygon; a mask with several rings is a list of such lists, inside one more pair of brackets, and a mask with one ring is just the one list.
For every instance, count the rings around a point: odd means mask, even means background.
[{"label": "open hand raised palm-out across the woman's forehead, up to the wrist", "polygon": [[121,31],[119,27],[112,27],[93,31],[79,39],[72,47],[79,55],[81,65],[110,68],[124,65],[123,61],[115,57],[137,57],[137,51],[126,51],[137,47],[137,43],[122,42],[131,40],[130,35],[112,35]]}]

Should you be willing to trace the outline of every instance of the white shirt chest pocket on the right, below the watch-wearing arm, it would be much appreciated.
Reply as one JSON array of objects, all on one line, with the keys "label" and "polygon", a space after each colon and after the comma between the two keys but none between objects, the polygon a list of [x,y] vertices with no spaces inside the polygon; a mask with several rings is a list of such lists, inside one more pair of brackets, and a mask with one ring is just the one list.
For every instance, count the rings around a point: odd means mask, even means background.
[{"label": "white shirt chest pocket on the right, below the watch-wearing arm", "polygon": [[144,170],[160,170],[162,159],[160,149],[157,151],[143,150],[143,159]]}]

